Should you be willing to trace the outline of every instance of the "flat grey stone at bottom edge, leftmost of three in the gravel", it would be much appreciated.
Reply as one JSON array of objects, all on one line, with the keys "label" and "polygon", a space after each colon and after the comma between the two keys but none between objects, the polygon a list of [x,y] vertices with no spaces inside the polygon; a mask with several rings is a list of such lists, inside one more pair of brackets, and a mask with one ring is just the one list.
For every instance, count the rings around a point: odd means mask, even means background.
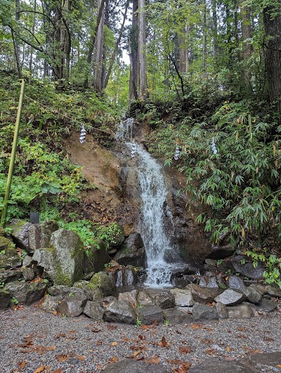
[{"label": "flat grey stone at bottom edge, leftmost of three in the gravel", "polygon": [[126,359],[109,364],[103,370],[105,373],[171,373],[171,368],[161,364],[146,364],[142,360]]}]

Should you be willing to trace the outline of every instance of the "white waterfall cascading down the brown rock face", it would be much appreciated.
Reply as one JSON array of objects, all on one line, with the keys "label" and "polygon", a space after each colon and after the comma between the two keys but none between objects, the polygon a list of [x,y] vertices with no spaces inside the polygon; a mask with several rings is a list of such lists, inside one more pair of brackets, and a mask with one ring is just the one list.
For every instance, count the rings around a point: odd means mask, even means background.
[{"label": "white waterfall cascading down the brown rock face", "polygon": [[[128,145],[131,148],[132,144]],[[176,267],[173,263],[167,263],[166,259],[175,257],[176,247],[171,244],[174,223],[171,211],[166,205],[166,183],[162,167],[140,145],[136,145],[136,154],[142,200],[139,231],[147,259],[145,285],[169,287],[172,285],[171,275]],[[170,221],[170,234],[164,229],[165,218]]]}]

